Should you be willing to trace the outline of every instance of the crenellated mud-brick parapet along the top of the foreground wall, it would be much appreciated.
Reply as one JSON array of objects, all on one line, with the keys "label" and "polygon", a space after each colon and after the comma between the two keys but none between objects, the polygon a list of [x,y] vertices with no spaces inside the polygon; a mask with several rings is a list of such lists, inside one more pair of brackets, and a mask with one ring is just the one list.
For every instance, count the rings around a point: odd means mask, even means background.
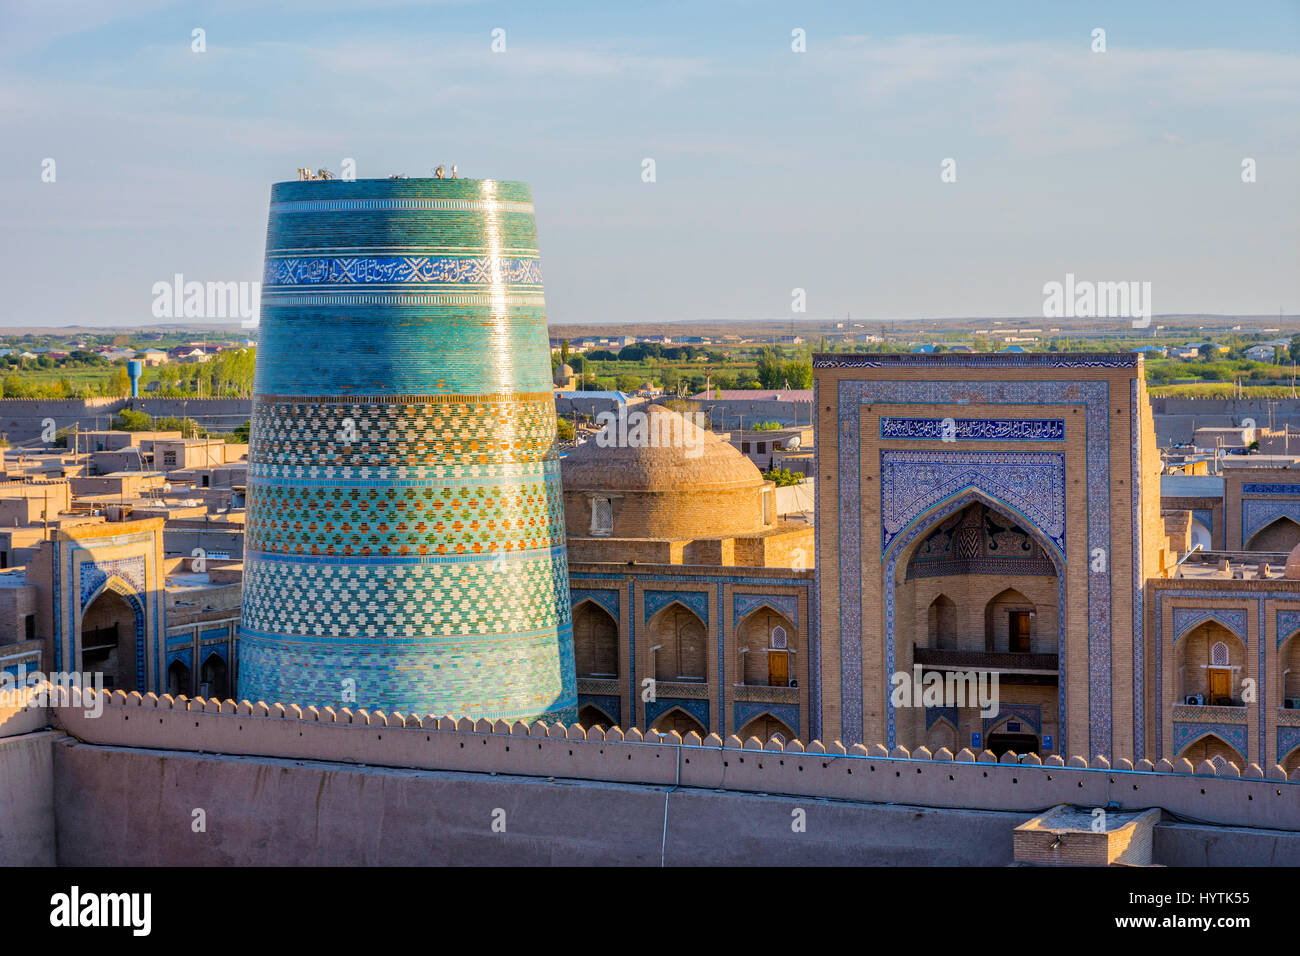
[{"label": "crenellated mud-brick parapet along the top of the foreground wall", "polygon": [[[861,803],[1037,813],[1058,804],[1145,809],[1223,826],[1300,830],[1300,774],[1226,762],[845,747],[718,735],[585,731],[580,726],[300,708],[152,693],[72,692],[58,706],[27,693],[0,708],[0,735],[53,726],[78,740],[369,766],[558,777],[612,783],[785,793]],[[100,708],[101,705],[101,708]],[[95,715],[96,709],[99,714]]]}]

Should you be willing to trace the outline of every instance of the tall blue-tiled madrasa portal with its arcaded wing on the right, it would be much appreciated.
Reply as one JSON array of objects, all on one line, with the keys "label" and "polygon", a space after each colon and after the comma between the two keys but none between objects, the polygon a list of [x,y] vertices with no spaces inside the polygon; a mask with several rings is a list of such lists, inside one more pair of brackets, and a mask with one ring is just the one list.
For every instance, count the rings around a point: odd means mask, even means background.
[{"label": "tall blue-tiled madrasa portal with its arcaded wing on the right", "polygon": [[[827,354],[814,377],[816,736],[1300,763],[1300,555],[1184,562],[1140,355]],[[996,674],[996,704],[897,693],[954,671]]]}]

